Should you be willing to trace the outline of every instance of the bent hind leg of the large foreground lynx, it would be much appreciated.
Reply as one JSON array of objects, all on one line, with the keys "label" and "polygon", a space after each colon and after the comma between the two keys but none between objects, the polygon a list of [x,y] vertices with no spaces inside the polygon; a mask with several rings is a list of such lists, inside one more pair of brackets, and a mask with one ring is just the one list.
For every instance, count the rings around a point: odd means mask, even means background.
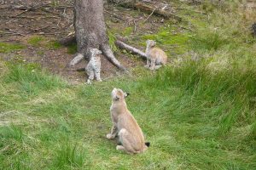
[{"label": "bent hind leg of the large foreground lynx", "polygon": [[122,128],[119,131],[119,140],[122,143],[122,145],[117,145],[116,149],[117,150],[124,150],[128,154],[134,154],[137,153],[133,148],[132,148],[132,136],[131,134],[125,129]]}]

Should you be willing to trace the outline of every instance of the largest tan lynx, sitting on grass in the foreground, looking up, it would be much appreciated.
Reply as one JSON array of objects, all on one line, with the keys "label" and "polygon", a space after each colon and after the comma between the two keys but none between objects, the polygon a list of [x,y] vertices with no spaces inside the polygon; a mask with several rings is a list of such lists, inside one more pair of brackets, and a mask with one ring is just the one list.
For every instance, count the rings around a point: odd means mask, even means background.
[{"label": "largest tan lynx, sitting on grass in the foreground, looking up", "polygon": [[107,134],[107,138],[114,139],[118,134],[122,145],[117,145],[116,149],[125,150],[128,154],[137,154],[147,150],[148,146],[145,145],[141,127],[127,109],[125,96],[121,89],[113,88],[110,107],[113,127],[111,133]]}]

